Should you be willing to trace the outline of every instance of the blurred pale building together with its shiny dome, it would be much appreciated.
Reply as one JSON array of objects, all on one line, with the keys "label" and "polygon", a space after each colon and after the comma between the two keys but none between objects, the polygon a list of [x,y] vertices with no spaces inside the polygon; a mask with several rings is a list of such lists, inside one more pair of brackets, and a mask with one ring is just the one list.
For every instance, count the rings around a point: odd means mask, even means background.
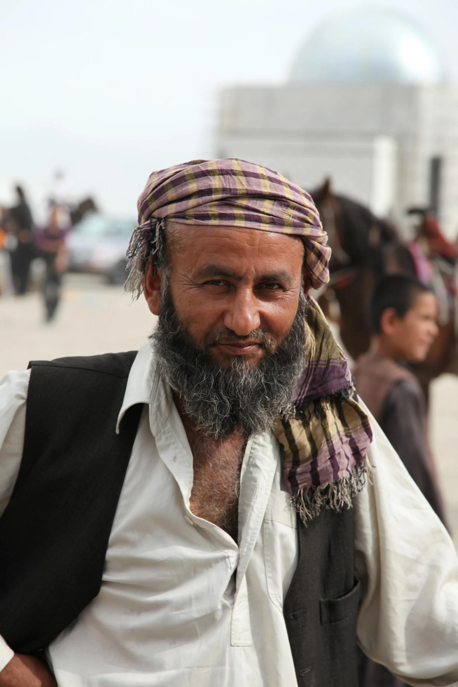
[{"label": "blurred pale building together with its shiny dome", "polygon": [[222,93],[220,157],[279,170],[402,222],[428,205],[458,230],[458,89],[421,27],[391,10],[354,10],[323,23],[283,87]]}]

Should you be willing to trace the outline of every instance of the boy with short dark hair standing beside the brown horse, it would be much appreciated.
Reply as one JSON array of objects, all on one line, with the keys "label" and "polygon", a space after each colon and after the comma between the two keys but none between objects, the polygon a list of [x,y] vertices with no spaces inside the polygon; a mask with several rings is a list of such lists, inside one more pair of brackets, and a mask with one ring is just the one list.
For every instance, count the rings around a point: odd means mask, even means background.
[{"label": "boy with short dark hair standing beside the brown horse", "polygon": [[[371,296],[371,347],[354,365],[356,392],[385,432],[409,474],[444,524],[444,508],[429,451],[426,400],[409,363],[424,361],[438,328],[437,301],[407,275],[388,275]],[[405,683],[360,655],[360,687]]]}]

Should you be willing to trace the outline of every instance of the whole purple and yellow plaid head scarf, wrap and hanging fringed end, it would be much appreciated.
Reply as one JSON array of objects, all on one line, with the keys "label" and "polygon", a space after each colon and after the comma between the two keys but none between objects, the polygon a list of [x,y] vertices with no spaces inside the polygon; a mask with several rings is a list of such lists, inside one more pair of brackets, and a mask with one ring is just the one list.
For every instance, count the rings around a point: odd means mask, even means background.
[{"label": "whole purple and yellow plaid head scarf, wrap and hanging fringed end", "polygon": [[[312,286],[328,282],[330,248],[309,194],[281,174],[239,159],[194,160],[152,172],[138,200],[126,289],[141,293],[148,262],[163,250],[165,221],[295,234]],[[350,507],[367,472],[369,418],[352,398],[347,361],[319,306],[308,299],[306,363],[292,411],[278,418],[284,481],[304,522],[321,508]]]}]

